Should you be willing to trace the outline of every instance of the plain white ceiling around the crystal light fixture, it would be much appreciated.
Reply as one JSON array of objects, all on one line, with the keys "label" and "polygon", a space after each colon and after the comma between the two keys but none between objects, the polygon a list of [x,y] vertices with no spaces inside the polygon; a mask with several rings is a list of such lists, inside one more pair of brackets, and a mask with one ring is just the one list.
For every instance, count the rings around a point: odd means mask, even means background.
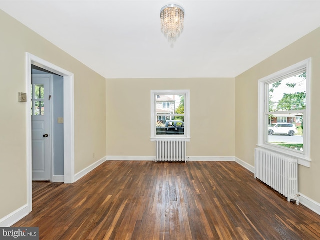
[{"label": "plain white ceiling around the crystal light fixture", "polygon": [[[185,10],[171,45],[160,9]],[[317,0],[0,0],[105,78],[235,77],[320,27]]]}]

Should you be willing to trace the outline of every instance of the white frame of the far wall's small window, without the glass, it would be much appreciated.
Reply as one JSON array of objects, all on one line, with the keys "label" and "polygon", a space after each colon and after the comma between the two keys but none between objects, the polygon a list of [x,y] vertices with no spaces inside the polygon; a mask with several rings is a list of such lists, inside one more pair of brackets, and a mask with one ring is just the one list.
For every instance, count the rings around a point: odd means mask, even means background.
[{"label": "white frame of the far wall's small window, without the glass", "polygon": [[[156,96],[157,95],[184,95],[184,134],[183,135],[156,135],[155,122],[157,119],[156,115]],[[156,139],[167,138],[170,140],[175,139],[185,139],[190,141],[190,90],[151,90],[151,121],[150,121],[150,131],[151,131],[151,141]]]}]

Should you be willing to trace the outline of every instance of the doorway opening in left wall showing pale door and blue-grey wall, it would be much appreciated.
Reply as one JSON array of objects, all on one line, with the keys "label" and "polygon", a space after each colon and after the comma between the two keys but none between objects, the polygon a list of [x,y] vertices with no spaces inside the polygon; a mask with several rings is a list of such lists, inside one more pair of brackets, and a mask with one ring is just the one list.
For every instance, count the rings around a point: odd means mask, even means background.
[{"label": "doorway opening in left wall showing pale door and blue-grey wall", "polygon": [[31,68],[32,180],[64,182],[63,77]]}]

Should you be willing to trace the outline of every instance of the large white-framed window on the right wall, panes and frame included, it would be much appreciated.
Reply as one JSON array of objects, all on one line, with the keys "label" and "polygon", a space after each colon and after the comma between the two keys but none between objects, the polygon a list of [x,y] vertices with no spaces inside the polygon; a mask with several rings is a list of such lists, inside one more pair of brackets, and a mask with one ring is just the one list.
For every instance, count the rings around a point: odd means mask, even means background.
[{"label": "large white-framed window on the right wall, panes and frame included", "polygon": [[310,59],[259,80],[258,146],[309,166]]}]

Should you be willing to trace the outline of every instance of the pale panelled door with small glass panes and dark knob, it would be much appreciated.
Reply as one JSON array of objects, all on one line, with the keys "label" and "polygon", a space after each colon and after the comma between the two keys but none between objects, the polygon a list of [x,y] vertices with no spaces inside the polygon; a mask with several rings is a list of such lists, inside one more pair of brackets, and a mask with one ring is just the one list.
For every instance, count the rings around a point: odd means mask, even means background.
[{"label": "pale panelled door with small glass panes and dark knob", "polygon": [[51,86],[52,76],[32,75],[32,180],[51,180]]}]

